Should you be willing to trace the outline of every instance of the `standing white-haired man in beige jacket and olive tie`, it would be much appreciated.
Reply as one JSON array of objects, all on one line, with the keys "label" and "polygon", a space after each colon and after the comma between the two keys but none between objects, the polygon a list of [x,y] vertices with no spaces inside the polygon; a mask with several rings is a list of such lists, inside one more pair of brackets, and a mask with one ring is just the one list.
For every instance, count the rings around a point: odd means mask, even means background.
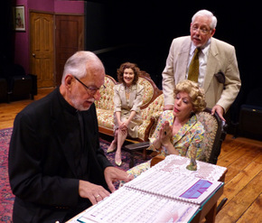
[{"label": "standing white-haired man in beige jacket and olive tie", "polygon": [[173,88],[192,79],[204,88],[207,107],[220,118],[239,94],[241,81],[233,46],[212,36],[217,18],[207,10],[192,16],[191,36],[173,39],[163,71],[164,110],[173,109]]}]

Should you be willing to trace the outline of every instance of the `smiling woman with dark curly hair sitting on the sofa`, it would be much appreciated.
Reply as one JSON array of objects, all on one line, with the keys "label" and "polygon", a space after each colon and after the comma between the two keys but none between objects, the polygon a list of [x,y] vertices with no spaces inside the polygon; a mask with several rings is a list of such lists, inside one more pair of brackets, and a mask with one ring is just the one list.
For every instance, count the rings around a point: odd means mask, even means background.
[{"label": "smiling woman with dark curly hair sitting on the sofa", "polygon": [[114,87],[114,131],[115,137],[108,147],[108,153],[116,150],[115,163],[120,166],[121,147],[126,136],[138,137],[138,125],[142,124],[140,107],[143,103],[144,87],[137,83],[140,74],[135,63],[126,62],[117,70],[119,85]]}]

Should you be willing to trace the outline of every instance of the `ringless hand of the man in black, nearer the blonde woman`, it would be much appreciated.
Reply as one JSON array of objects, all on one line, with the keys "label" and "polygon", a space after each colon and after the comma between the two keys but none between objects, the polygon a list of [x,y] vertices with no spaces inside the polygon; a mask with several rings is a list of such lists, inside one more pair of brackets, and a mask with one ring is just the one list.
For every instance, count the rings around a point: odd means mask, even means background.
[{"label": "ringless hand of the man in black, nearer the blonde woman", "polygon": [[114,181],[131,181],[134,179],[133,176],[131,175],[128,175],[127,172],[124,172],[120,169],[117,169],[116,167],[113,167],[113,166],[108,166],[106,169],[105,169],[105,179],[108,183],[108,188],[111,192],[114,192],[116,190],[113,182]]}]

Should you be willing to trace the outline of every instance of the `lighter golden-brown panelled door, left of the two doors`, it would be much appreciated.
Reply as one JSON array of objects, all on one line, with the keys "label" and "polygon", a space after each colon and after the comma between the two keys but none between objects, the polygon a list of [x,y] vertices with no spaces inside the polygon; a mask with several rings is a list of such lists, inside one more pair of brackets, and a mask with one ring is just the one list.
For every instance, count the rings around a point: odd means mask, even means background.
[{"label": "lighter golden-brown panelled door, left of the two doors", "polygon": [[54,87],[53,14],[30,13],[31,73],[37,87]]}]

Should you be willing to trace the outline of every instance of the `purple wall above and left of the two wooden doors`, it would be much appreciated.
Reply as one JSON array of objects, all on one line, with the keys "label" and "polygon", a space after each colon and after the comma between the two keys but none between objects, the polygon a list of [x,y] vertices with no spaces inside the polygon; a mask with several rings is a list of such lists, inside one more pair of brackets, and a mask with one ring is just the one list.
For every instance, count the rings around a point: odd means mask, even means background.
[{"label": "purple wall above and left of the two wooden doors", "polygon": [[19,63],[25,71],[30,71],[30,18],[29,11],[51,12],[54,14],[84,14],[84,1],[62,0],[16,0],[16,5],[24,5],[25,32],[14,36],[14,63]]}]

